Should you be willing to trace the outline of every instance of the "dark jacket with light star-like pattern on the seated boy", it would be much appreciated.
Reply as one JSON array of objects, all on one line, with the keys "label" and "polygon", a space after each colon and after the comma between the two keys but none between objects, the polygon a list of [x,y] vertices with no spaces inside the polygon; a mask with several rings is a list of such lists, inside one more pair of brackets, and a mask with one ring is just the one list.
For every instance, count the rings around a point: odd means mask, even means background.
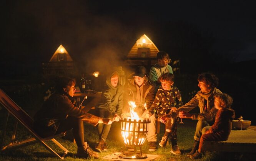
[{"label": "dark jacket with light star-like pattern on the seated boy", "polygon": [[171,86],[171,90],[164,90],[162,87],[157,90],[155,100],[150,107],[150,113],[153,114],[157,111],[158,117],[171,112],[172,107],[179,108],[183,105],[181,94],[178,88]]}]

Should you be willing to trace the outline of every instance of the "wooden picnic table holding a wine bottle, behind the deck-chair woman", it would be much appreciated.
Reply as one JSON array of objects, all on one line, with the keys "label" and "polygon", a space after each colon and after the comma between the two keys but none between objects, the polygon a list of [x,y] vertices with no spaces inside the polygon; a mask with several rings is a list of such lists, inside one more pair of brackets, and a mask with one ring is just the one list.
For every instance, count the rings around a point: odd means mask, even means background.
[{"label": "wooden picnic table holding a wine bottle, behind the deck-chair woman", "polygon": [[90,109],[95,109],[95,106],[99,103],[101,99],[102,92],[96,93],[75,93],[74,98],[76,99],[76,103],[79,107],[81,101],[83,101],[84,97],[87,96],[88,98],[83,102],[82,106],[80,107],[85,112],[88,112]]}]

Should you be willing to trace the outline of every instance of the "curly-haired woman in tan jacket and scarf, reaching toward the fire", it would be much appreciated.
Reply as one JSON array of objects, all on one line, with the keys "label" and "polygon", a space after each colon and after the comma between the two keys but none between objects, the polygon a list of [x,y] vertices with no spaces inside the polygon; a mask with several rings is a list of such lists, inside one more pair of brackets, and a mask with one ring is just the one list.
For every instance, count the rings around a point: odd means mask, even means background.
[{"label": "curly-haired woman in tan jacket and scarf, reaching toward the fire", "polygon": [[[214,106],[214,97],[217,94],[222,93],[216,87],[218,86],[219,79],[214,74],[209,72],[203,72],[198,76],[198,87],[201,89],[197,94],[185,105],[178,108],[176,111],[169,113],[160,118],[162,122],[166,122],[169,118],[191,118],[192,120],[198,120],[196,124],[196,131],[194,133],[194,145],[190,153],[194,154],[199,146],[200,137],[202,136],[202,129],[205,126],[209,126],[209,123],[213,121],[218,109]],[[199,107],[200,113],[188,113],[194,108]]]}]

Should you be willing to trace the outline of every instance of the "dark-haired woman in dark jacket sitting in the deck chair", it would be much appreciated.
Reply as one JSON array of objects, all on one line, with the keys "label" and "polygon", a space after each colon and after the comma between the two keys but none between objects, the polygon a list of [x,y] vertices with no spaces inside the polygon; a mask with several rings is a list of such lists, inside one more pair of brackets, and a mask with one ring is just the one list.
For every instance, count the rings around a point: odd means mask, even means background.
[{"label": "dark-haired woman in dark jacket sitting in the deck chair", "polygon": [[84,141],[83,121],[96,126],[98,123],[111,124],[106,118],[96,117],[80,110],[73,99],[75,83],[73,79],[60,77],[56,82],[56,92],[44,102],[42,108],[35,114],[34,130],[42,137],[57,135],[70,129],[78,146],[76,157],[98,158]]}]

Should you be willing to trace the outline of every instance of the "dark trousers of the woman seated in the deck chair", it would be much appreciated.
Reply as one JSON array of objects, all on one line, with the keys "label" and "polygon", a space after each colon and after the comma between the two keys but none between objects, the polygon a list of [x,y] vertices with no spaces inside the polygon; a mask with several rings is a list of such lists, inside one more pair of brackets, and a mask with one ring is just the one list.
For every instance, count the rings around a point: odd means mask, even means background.
[{"label": "dark trousers of the woman seated in the deck chair", "polygon": [[83,131],[83,121],[80,118],[68,116],[65,120],[63,120],[60,123],[55,135],[62,132],[66,132],[70,129],[72,129],[76,145],[78,147],[83,146],[85,139]]}]

